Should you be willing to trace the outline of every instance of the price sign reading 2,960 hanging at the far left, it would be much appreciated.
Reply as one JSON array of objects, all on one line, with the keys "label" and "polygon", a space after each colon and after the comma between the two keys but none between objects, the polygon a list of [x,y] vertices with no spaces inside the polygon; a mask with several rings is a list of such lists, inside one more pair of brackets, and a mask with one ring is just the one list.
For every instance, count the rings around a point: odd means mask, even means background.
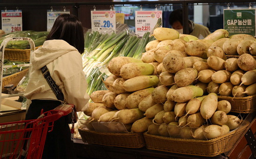
[{"label": "price sign reading 2,960 hanging at the far left", "polygon": [[22,10],[2,10],[2,30],[5,33],[22,31]]}]

